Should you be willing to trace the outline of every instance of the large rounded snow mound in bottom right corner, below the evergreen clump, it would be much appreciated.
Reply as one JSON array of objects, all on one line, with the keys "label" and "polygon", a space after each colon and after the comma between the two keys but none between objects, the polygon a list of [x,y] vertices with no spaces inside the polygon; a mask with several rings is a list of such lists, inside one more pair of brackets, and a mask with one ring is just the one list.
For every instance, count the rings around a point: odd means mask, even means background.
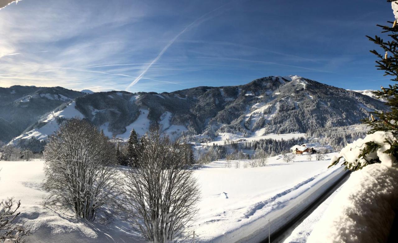
[{"label": "large rounded snow mound in bottom right corner, below the evergreen clump", "polygon": [[398,207],[398,169],[371,164],[353,172],[307,243],[386,242]]}]

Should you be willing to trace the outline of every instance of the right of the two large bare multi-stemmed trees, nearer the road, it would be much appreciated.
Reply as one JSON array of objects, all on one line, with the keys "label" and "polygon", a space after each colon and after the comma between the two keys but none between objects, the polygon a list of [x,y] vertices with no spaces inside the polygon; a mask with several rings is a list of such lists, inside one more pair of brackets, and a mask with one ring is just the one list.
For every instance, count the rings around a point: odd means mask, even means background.
[{"label": "right of the two large bare multi-stemmed trees, nearer the road", "polygon": [[199,187],[181,145],[158,131],[144,135],[140,166],[126,172],[124,210],[149,241],[170,242],[185,235],[197,212]]}]

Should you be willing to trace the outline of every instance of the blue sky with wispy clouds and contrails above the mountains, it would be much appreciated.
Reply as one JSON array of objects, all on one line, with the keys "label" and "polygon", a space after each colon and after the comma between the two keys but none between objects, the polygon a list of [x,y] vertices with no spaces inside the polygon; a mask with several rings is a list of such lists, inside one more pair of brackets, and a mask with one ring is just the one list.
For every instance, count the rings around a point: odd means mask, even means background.
[{"label": "blue sky with wispy clouds and contrails above the mountains", "polygon": [[0,87],[174,91],[299,75],[345,89],[392,82],[365,35],[380,0],[22,0],[0,10]]}]

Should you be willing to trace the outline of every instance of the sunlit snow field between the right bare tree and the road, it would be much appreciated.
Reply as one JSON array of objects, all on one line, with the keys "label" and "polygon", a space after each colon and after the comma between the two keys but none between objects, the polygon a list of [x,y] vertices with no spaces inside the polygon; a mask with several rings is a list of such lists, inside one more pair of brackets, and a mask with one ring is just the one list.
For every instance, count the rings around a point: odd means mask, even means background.
[{"label": "sunlit snow field between the right bare tree and the road", "polygon": [[225,168],[226,163],[212,162],[197,172],[203,199],[193,227],[199,242],[259,242],[267,236],[266,218],[272,233],[344,174],[340,166],[327,169],[330,160],[306,156],[291,163],[275,156],[258,168],[236,169],[234,161]]}]

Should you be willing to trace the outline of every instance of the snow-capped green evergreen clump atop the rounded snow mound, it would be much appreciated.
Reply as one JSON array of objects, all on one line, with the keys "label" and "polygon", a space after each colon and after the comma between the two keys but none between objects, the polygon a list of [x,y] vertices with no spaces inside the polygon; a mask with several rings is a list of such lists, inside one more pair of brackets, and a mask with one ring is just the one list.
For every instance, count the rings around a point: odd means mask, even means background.
[{"label": "snow-capped green evergreen clump atop the rounded snow mound", "polygon": [[397,162],[397,137],[391,132],[376,131],[363,139],[349,143],[331,160],[333,166],[344,158],[344,165],[349,170],[359,170],[369,164],[381,163],[391,167]]}]

